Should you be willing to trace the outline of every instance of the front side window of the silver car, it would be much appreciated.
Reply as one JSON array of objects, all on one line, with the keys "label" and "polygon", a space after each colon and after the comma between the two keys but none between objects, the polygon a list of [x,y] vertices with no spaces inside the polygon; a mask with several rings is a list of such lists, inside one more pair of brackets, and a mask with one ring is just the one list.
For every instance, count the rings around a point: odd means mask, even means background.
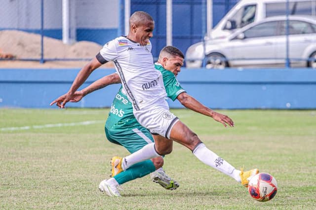
[{"label": "front side window of the silver car", "polygon": [[274,36],[276,35],[277,21],[258,24],[244,31],[245,38]]}]

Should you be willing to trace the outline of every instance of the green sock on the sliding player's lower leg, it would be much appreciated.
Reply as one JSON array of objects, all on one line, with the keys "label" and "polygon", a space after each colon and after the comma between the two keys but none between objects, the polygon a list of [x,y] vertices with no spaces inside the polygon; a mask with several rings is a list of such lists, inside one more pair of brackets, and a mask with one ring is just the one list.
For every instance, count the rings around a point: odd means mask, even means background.
[{"label": "green sock on the sliding player's lower leg", "polygon": [[123,184],[127,181],[143,177],[152,172],[156,171],[155,165],[151,160],[146,160],[137,164],[134,164],[132,167],[128,168],[126,171],[115,175],[114,178],[117,180],[118,184]]}]

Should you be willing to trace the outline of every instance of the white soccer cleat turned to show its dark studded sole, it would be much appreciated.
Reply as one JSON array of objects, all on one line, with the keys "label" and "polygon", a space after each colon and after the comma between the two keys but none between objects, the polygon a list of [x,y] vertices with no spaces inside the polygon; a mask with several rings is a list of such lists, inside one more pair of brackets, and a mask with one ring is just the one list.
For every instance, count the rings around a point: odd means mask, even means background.
[{"label": "white soccer cleat turned to show its dark studded sole", "polygon": [[178,182],[171,179],[163,170],[156,170],[151,173],[150,178],[167,190],[175,190],[179,187]]}]

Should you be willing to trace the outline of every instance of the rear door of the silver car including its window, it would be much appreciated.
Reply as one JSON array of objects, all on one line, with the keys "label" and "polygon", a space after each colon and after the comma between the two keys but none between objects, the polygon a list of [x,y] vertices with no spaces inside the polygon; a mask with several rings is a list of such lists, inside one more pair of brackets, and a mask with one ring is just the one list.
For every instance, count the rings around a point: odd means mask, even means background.
[{"label": "rear door of the silver car including its window", "polygon": [[[276,55],[280,60],[286,59],[286,21],[279,27],[280,36],[276,40]],[[315,43],[315,33],[310,23],[299,20],[289,21],[289,59],[293,66],[305,66],[303,59],[305,49]]]}]

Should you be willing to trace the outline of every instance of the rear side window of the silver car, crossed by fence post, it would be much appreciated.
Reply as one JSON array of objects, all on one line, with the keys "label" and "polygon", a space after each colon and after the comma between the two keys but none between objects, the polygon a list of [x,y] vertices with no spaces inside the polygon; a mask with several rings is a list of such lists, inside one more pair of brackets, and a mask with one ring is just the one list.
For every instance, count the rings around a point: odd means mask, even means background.
[{"label": "rear side window of the silver car, crossed by fence post", "polygon": [[[289,21],[289,35],[312,34],[314,30],[310,23],[304,21]],[[286,34],[286,21],[280,24],[280,35]]]}]

